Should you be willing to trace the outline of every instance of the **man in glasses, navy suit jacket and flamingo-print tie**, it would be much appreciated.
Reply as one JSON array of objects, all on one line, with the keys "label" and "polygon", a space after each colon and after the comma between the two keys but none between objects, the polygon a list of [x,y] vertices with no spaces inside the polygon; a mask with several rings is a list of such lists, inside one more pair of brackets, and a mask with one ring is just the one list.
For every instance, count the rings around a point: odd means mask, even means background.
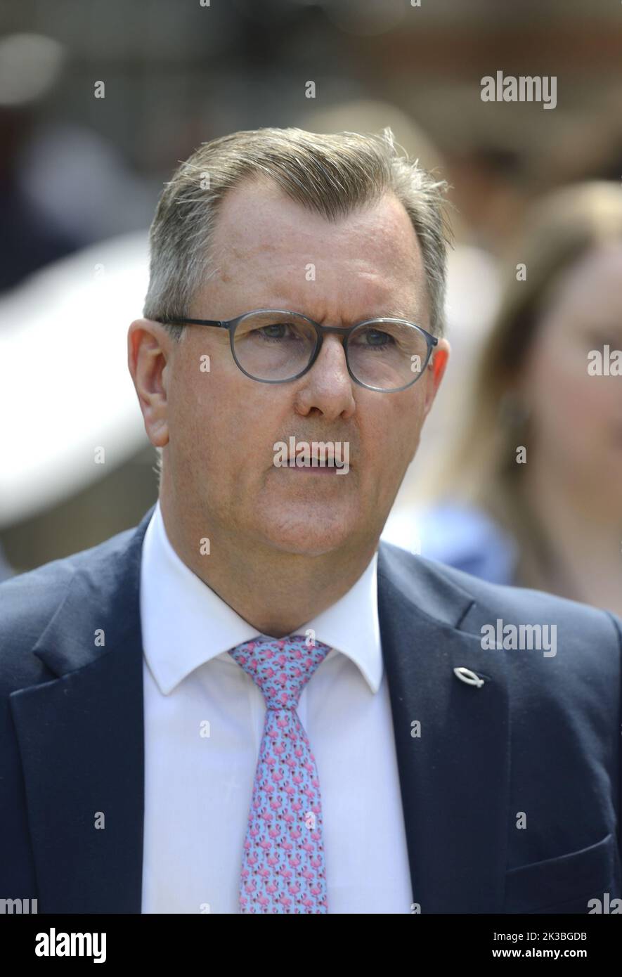
[{"label": "man in glasses, navy suit jacket and flamingo-print tie", "polygon": [[128,334],[158,502],[0,587],[0,898],[620,897],[622,622],[379,545],[449,352],[443,190],[390,131],[295,129],[167,185]]}]

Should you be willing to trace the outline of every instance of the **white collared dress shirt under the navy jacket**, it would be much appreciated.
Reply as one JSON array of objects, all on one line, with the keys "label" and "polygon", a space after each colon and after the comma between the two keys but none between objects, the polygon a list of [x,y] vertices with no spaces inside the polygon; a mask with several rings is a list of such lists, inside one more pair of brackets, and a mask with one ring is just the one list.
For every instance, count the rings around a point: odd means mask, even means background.
[{"label": "white collared dress shirt under the navy jacket", "polygon": [[[143,545],[141,621],[142,912],[238,913],[266,703],[228,649],[260,632],[178,557],[159,503]],[[328,912],[410,913],[377,553],[347,594],[293,633],[308,628],[331,648],[298,705],[317,764]]]}]

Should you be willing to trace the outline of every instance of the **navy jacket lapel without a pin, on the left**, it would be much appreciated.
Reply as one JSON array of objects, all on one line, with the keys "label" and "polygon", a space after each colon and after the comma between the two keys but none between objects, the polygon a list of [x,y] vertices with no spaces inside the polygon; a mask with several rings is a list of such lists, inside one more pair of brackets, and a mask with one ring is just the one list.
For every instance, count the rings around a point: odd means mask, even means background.
[{"label": "navy jacket lapel without a pin, on the left", "polygon": [[140,568],[153,509],[72,577],[32,649],[56,676],[14,692],[39,912],[140,913]]}]

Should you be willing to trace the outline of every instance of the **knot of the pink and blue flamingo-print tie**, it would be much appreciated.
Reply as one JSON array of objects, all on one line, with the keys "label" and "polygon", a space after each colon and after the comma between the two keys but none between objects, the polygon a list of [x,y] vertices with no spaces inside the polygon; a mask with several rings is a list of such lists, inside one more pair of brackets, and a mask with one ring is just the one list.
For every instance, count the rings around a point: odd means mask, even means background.
[{"label": "knot of the pink and blue flamingo-print tie", "polygon": [[269,709],[295,709],[311,675],[330,651],[302,634],[255,638],[229,651],[262,690]]}]

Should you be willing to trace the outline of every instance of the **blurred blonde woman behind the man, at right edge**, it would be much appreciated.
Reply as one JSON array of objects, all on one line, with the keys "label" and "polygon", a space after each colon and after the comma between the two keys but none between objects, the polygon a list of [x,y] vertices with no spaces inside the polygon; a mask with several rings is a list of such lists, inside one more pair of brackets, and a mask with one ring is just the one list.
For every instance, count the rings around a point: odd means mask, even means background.
[{"label": "blurred blonde woman behind the man, at right edge", "polygon": [[463,416],[422,554],[622,614],[618,184],[533,206]]}]

